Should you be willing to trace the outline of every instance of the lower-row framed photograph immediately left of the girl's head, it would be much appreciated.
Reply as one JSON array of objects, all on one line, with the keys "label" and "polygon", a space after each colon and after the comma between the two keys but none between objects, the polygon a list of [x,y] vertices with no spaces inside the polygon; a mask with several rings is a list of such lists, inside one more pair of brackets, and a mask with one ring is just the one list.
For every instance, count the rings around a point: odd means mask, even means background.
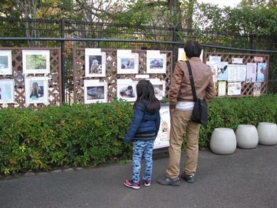
[{"label": "lower-row framed photograph immediately left of the girl's head", "polygon": [[117,80],[117,97],[126,101],[136,101],[136,82],[131,79]]}]

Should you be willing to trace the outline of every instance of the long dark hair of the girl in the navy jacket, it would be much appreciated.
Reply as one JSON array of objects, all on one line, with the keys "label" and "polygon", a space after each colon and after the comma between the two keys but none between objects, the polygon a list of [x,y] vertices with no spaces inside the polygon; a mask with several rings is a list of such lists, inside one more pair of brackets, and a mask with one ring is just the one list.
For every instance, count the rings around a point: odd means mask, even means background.
[{"label": "long dark hair of the girl in the navy jacket", "polygon": [[[139,101],[149,101],[150,108],[148,112],[154,113],[157,109],[161,108],[160,101],[156,98],[154,93],[154,87],[149,80],[139,80],[139,83],[136,85],[136,101],[134,102],[134,107]],[[158,107],[157,107],[158,106]]]}]

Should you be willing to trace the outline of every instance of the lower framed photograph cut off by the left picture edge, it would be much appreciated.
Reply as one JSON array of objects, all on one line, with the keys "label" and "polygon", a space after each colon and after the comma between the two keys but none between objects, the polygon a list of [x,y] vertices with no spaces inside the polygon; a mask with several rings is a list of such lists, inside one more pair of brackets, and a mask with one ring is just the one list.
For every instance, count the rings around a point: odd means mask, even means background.
[{"label": "lower framed photograph cut off by the left picture edge", "polygon": [[15,103],[15,80],[0,80],[0,103]]}]

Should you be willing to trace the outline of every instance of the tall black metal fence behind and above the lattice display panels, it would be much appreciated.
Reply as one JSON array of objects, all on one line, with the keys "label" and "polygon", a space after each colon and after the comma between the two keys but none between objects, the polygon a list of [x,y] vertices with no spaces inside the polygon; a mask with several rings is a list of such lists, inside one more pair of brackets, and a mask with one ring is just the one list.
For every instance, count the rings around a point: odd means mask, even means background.
[{"label": "tall black metal fence behind and above the lattice display panels", "polygon": [[[269,55],[268,93],[277,92],[277,37],[260,37],[191,31],[181,28],[96,24],[64,19],[0,18],[1,47],[60,47],[62,60],[62,100],[71,102],[73,49],[132,49],[172,51],[177,61],[177,49],[187,40],[197,40],[207,52],[258,53]],[[174,65],[173,65],[174,69]]]}]

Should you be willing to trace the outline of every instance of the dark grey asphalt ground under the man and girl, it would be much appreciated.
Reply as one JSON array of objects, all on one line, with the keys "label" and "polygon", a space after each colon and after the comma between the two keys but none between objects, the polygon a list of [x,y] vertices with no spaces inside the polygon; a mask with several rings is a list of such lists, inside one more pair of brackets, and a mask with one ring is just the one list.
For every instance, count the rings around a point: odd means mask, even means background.
[{"label": "dark grey asphalt ground under the man and girl", "polygon": [[232,155],[200,150],[195,183],[180,179],[179,187],[157,182],[167,165],[168,155],[154,157],[152,184],[139,190],[123,185],[132,162],[2,177],[0,207],[277,207],[277,145]]}]

